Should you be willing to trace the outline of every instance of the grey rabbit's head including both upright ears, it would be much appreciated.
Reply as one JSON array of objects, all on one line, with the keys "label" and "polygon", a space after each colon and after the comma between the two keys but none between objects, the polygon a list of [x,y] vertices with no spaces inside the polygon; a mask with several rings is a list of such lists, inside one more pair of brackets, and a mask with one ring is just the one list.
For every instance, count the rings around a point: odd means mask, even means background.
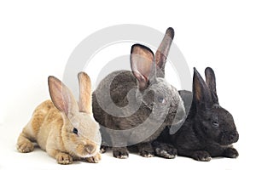
[{"label": "grey rabbit's head including both upright ears", "polygon": [[185,119],[183,101],[177,89],[166,82],[165,65],[174,31],[166,30],[155,55],[150,48],[140,44],[131,47],[131,70],[137,78],[137,99],[142,101],[151,111],[154,121],[176,125]]}]

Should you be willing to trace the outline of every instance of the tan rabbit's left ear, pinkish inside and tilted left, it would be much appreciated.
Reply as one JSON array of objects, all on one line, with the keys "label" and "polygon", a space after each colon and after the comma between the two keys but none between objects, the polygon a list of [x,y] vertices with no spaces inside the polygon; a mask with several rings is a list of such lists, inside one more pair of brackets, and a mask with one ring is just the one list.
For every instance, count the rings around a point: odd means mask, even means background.
[{"label": "tan rabbit's left ear, pinkish inside and tilted left", "polygon": [[56,77],[48,77],[49,94],[55,107],[68,117],[79,111],[76,100],[70,90]]}]

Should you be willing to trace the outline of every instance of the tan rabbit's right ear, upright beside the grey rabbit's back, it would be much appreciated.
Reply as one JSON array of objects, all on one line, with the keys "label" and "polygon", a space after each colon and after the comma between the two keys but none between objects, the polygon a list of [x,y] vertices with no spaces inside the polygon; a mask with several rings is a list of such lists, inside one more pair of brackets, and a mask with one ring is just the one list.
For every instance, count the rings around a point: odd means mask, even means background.
[{"label": "tan rabbit's right ear, upright beside the grey rabbit's back", "polygon": [[79,77],[79,111],[85,112],[85,113],[92,113],[90,77],[84,72],[79,72],[78,77]]}]

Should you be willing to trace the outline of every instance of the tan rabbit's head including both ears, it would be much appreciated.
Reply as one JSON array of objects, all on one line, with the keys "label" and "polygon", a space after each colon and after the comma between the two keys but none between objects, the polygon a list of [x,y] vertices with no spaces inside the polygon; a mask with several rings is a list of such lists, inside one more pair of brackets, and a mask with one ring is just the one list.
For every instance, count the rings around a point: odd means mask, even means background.
[{"label": "tan rabbit's head including both ears", "polygon": [[48,82],[52,102],[63,119],[60,138],[64,147],[73,156],[95,156],[100,149],[101,134],[92,115],[90,77],[79,73],[79,104],[60,80],[49,77]]}]

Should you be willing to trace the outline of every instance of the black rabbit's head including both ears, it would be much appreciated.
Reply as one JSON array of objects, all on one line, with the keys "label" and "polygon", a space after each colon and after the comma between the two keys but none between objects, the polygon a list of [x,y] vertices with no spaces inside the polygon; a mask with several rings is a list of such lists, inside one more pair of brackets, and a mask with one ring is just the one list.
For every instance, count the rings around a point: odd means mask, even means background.
[{"label": "black rabbit's head including both ears", "polygon": [[218,104],[215,75],[212,68],[205,70],[206,82],[194,68],[193,102],[195,127],[204,139],[221,145],[235,143],[239,135],[233,116]]}]

